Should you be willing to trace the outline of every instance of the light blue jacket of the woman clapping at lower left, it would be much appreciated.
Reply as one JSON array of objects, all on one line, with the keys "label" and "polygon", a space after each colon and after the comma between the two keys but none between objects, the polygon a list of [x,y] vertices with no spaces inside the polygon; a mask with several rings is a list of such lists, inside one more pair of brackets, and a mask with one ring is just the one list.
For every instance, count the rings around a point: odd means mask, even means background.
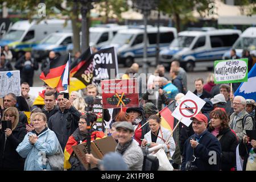
[{"label": "light blue jacket of the woman clapping at lower left", "polygon": [[[22,158],[26,158],[24,171],[42,171],[42,158],[46,155],[55,154],[59,147],[59,141],[55,133],[47,129],[38,135],[38,140],[32,145],[28,141],[28,135],[31,134],[31,132],[27,133],[22,143],[16,148],[16,151]],[[51,170],[48,163],[46,169],[47,171]]]}]

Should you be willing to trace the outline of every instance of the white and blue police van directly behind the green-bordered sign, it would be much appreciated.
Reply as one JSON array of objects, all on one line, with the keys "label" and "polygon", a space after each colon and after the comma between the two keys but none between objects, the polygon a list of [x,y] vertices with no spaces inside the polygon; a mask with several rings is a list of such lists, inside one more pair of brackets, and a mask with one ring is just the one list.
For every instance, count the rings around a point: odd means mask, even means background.
[{"label": "white and blue police van directly behind the green-bordered sign", "polygon": [[222,29],[209,31],[183,31],[169,48],[160,51],[160,63],[170,68],[173,60],[179,60],[186,71],[195,67],[214,67],[214,60],[221,60],[241,35],[240,30]]}]

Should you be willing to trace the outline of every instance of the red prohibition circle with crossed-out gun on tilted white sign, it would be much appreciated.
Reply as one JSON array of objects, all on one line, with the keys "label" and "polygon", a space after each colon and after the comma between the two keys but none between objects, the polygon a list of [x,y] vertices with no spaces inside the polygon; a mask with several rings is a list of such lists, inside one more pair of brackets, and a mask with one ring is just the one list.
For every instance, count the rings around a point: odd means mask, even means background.
[{"label": "red prohibition circle with crossed-out gun on tilted white sign", "polygon": [[198,106],[193,100],[184,100],[179,106],[180,114],[186,118],[191,118],[196,115]]}]

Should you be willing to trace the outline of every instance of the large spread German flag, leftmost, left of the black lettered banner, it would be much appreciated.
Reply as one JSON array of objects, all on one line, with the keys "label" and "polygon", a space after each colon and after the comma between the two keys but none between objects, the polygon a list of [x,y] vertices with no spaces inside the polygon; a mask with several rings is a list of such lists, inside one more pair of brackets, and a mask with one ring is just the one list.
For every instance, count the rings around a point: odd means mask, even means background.
[{"label": "large spread German flag, leftmost, left of the black lettered banner", "polygon": [[[56,88],[58,91],[63,89],[62,78],[65,73],[65,67],[69,63],[69,55],[59,56],[56,59],[52,60],[49,68],[45,69],[41,75],[40,79],[46,82],[47,85],[51,86],[51,88]],[[66,68],[67,69],[67,68]],[[58,89],[59,86],[61,89]]]}]

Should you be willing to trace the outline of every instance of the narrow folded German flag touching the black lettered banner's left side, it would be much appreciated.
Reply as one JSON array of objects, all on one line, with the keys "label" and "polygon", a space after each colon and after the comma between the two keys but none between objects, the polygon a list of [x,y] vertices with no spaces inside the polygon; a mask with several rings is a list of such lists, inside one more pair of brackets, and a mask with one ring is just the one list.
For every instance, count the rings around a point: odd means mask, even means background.
[{"label": "narrow folded German flag touching the black lettered banner's left side", "polygon": [[73,75],[75,75],[75,73],[77,71],[79,71],[79,69],[85,64],[85,62],[87,60],[89,60],[91,55],[92,55],[92,50],[89,47],[88,49],[86,49],[86,51],[84,53],[81,54],[81,56],[79,58],[77,58],[77,60],[73,61],[73,63],[71,64],[71,67],[70,67],[71,77],[73,77]]}]

